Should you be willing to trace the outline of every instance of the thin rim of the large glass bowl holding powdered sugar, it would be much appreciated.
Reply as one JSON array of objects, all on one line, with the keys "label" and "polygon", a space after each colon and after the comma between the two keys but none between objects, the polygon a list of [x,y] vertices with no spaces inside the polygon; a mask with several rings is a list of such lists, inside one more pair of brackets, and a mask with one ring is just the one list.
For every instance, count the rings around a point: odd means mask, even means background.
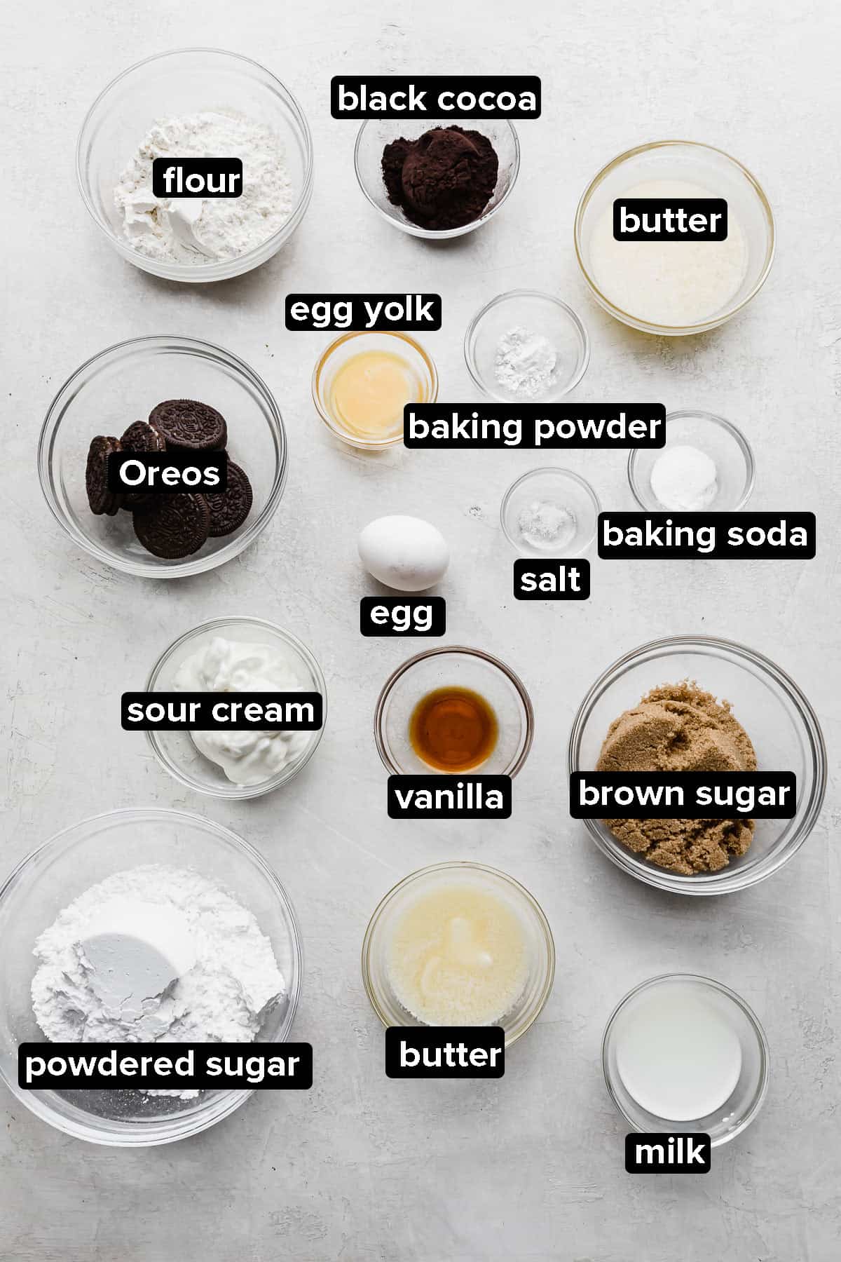
[{"label": "thin rim of the large glass bowl holding powdered sugar", "polygon": [[[44,851],[57,846],[62,840],[66,840],[68,834],[74,833],[84,825],[96,824],[103,820],[120,823],[129,822],[131,819],[139,823],[149,819],[159,819],[161,822],[169,820],[173,823],[187,819],[192,825],[198,824],[202,829],[216,833],[216,835],[232,849],[245,854],[266,878],[267,885],[272,888],[272,892],[284,909],[295,962],[295,978],[294,984],[289,989],[289,1008],[286,1015],[286,1034],[289,1034],[295,1021],[304,974],[301,931],[295,909],[289,895],[286,893],[285,886],[281,883],[274,868],[270,867],[260,851],[253,847],[251,842],[247,842],[243,837],[240,837],[238,833],[235,833],[233,829],[227,828],[224,824],[219,824],[213,819],[208,819],[206,815],[198,815],[188,810],[175,810],[171,806],[120,806],[113,810],[97,811],[96,815],[87,815],[84,819],[78,819],[76,823],[67,824],[57,833],[53,833],[52,837],[40,842],[14,866],[14,868],[0,883],[0,905],[11,886],[18,883],[21,878],[24,870],[28,868],[34,859],[43,854]],[[284,978],[284,981],[287,981],[287,978]],[[48,1042],[49,1040],[44,1041]],[[223,1118],[229,1117],[235,1109],[240,1108],[241,1104],[245,1104],[248,1097],[253,1094],[253,1088],[219,1092],[213,1102],[214,1111],[212,1116],[200,1117],[199,1121],[198,1113],[190,1113],[189,1124],[187,1126],[184,1124],[187,1117],[184,1114],[174,1113],[158,1119],[150,1119],[148,1123],[137,1123],[137,1132],[127,1129],[126,1132],[106,1136],[102,1133],[88,1133],[88,1127],[83,1123],[78,1123],[71,1118],[58,1117],[45,1102],[42,1102],[38,1094],[23,1090],[18,1085],[16,1078],[6,1076],[3,1060],[0,1060],[0,1079],[3,1079],[11,1094],[19,1099],[21,1104],[30,1111],[30,1113],[34,1113],[57,1131],[62,1131],[64,1135],[69,1135],[74,1140],[84,1140],[90,1143],[98,1143],[105,1147],[116,1148],[156,1147],[161,1143],[174,1143],[177,1140],[184,1140],[193,1135],[199,1135],[202,1131],[207,1131],[209,1127],[216,1126],[217,1122],[223,1121]],[[177,1122],[179,1117],[183,1119],[180,1126]],[[198,1124],[195,1124],[197,1122]],[[159,1128],[158,1123],[161,1123]],[[91,1126],[90,1129],[93,1131],[95,1127]]]}]

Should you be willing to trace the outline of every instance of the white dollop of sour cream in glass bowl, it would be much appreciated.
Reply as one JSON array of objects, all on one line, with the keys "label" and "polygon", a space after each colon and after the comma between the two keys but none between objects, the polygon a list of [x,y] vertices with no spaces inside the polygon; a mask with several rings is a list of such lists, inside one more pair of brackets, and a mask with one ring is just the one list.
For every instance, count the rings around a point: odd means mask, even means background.
[{"label": "white dollop of sour cream in glass bowl", "polygon": [[[306,685],[281,649],[214,636],[173,680],[182,693],[298,693]],[[197,750],[237,785],[258,785],[304,752],[311,732],[190,732]]]}]

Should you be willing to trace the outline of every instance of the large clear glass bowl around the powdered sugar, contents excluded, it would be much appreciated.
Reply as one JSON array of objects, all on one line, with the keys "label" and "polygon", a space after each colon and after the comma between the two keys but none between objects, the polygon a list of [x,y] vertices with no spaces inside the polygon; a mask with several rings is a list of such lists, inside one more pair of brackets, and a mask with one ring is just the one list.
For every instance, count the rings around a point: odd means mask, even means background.
[{"label": "large clear glass bowl around the powdered sugar, contents excluded", "polygon": [[[253,914],[271,940],[286,994],[264,1017],[258,1042],[285,1042],[301,984],[295,912],[265,859],[227,828],[179,810],[110,810],[84,819],[33,851],[0,888],[0,1075],[38,1117],[77,1140],[146,1147],[198,1135],[222,1121],[250,1090],[203,1090],[195,1099],[141,1092],[23,1090],[18,1046],[44,1042],[32,1011],[33,945],[58,912],[107,876],[144,863],[195,868]],[[49,1044],[45,1044],[49,1046]]]}]

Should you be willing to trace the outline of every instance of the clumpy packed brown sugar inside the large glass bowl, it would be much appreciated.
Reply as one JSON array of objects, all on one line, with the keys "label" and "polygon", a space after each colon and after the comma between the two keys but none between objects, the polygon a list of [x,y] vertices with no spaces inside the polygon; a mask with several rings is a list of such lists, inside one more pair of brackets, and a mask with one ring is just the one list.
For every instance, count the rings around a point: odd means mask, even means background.
[{"label": "clumpy packed brown sugar inside the large glass bowl", "polygon": [[[757,753],[729,702],[696,683],[661,684],[613,721],[596,771],[755,771]],[[717,872],[744,854],[753,819],[605,819],[617,840],[681,876]]]}]

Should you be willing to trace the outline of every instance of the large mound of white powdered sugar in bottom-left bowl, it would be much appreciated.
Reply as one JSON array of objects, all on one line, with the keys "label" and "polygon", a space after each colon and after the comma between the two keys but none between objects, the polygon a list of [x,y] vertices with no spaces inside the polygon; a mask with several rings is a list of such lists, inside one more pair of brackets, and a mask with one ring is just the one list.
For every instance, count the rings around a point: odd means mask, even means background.
[{"label": "large mound of white powdered sugar in bottom-left bowl", "polygon": [[184,868],[116,872],[59,911],[34,954],[33,1012],[52,1042],[250,1042],[285,991],[252,914]]}]

